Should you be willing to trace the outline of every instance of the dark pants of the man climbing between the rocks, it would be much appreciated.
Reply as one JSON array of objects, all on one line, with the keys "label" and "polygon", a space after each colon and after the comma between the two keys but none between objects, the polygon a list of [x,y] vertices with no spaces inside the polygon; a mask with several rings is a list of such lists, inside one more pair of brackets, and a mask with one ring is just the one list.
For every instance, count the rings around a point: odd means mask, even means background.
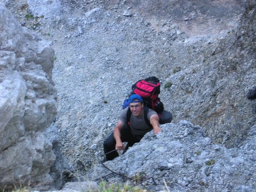
[{"label": "dark pants of the man climbing between the rocks", "polygon": [[[131,147],[133,144],[138,143],[143,136],[135,136],[131,133],[131,128],[129,125],[125,124],[125,127],[121,129],[121,141],[127,142],[127,145],[124,149],[124,152],[128,149],[128,147]],[[111,134],[105,139],[103,146],[104,146],[104,153],[111,152],[115,150],[115,138],[114,138],[114,131],[111,132]],[[113,151],[111,153],[106,154],[106,160],[112,160],[116,157],[118,157],[118,152]]]}]

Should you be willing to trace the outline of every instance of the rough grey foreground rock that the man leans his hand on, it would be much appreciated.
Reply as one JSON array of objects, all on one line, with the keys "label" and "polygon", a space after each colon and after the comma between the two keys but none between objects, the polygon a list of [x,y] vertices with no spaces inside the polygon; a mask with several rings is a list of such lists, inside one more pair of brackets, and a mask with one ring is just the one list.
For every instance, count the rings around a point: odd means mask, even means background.
[{"label": "rough grey foreground rock that the man leans his hand on", "polygon": [[[228,149],[212,144],[200,126],[180,121],[163,125],[158,135],[147,133],[124,155],[95,168],[91,179],[128,182],[148,191],[167,191],[168,187],[172,192],[252,192],[255,150],[256,125],[244,145]],[[108,176],[113,172],[114,177]]]}]

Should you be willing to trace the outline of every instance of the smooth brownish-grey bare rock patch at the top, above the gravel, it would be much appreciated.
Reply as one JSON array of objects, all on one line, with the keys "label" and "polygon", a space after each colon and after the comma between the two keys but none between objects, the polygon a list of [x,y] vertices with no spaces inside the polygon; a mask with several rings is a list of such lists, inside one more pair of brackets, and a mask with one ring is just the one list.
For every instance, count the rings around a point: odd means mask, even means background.
[{"label": "smooth brownish-grey bare rock patch at the top, above the gravel", "polygon": [[[171,29],[171,21],[190,37],[218,34],[229,29],[239,20],[245,0],[175,1],[175,0],[125,0],[118,2],[129,11],[144,15],[157,32]],[[106,7],[115,7],[115,0],[105,2]]]}]

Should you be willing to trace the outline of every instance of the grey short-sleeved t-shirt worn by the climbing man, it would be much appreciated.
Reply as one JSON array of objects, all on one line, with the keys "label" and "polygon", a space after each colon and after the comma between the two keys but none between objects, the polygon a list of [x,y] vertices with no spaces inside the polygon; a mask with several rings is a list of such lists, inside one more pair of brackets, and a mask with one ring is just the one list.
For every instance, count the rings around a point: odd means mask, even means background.
[{"label": "grey short-sleeved t-shirt worn by the climbing man", "polygon": [[[126,114],[127,114],[127,111],[128,111],[128,108],[125,108],[121,115],[120,115],[120,118],[119,120],[126,123]],[[148,121],[150,121],[150,117],[152,115],[157,115],[157,113],[155,111],[153,111],[152,109],[149,109],[148,111],[148,115],[147,115],[147,118],[148,118]],[[131,114],[131,118],[130,118],[130,127],[131,127],[131,132],[134,134],[134,135],[139,135],[139,136],[143,136],[145,135],[148,131],[151,131],[152,128],[148,126],[148,124],[146,123],[145,121],[145,118],[144,118],[144,111],[143,111],[143,115],[141,115],[141,117],[135,117],[134,115]]]}]

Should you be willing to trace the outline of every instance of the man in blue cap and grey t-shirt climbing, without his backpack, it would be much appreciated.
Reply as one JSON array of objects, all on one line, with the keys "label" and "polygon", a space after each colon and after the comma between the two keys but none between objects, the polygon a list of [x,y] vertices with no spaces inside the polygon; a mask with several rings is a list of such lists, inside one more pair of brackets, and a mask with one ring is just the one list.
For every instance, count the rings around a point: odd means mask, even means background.
[{"label": "man in blue cap and grey t-shirt climbing, without his backpack", "polygon": [[[118,150],[124,149],[125,152],[128,147],[139,142],[148,131],[153,129],[154,134],[161,131],[158,114],[152,109],[144,108],[141,96],[131,95],[128,104],[129,107],[121,112],[114,131],[103,143],[107,161],[118,157]],[[124,148],[125,141],[127,145]]]}]

